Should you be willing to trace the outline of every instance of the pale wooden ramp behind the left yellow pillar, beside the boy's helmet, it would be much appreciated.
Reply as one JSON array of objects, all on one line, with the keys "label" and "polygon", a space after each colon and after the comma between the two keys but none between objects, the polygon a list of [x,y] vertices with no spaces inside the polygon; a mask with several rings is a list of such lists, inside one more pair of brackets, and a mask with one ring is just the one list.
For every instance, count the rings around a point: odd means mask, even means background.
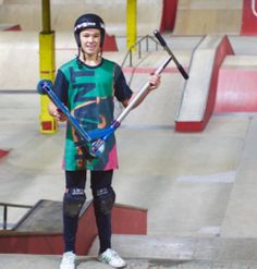
[{"label": "pale wooden ramp behind the left yellow pillar, beside the boy's helmet", "polygon": [[[114,48],[114,42],[109,45],[111,45],[109,48]],[[57,33],[56,66],[60,66],[76,54],[77,48],[73,34]],[[0,89],[35,90],[40,76],[39,34],[37,32],[0,32],[0,60],[2,62]]]}]

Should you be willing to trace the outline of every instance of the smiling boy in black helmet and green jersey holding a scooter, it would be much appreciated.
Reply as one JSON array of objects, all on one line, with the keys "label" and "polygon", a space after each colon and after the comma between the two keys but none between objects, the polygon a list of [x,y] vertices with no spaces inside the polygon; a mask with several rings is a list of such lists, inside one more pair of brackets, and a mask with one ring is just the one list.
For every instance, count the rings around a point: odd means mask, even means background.
[{"label": "smiling boy in black helmet and green jersey holding a scooter", "polygon": [[[124,107],[136,94],[127,86],[121,68],[102,57],[105,23],[97,14],[84,14],[74,25],[78,47],[76,58],[59,70],[53,90],[86,130],[103,129],[113,120],[117,98]],[[160,84],[159,75],[149,76],[149,89],[138,100],[138,106],[147,94]],[[59,121],[65,115],[50,102],[49,112]],[[68,123],[64,152],[65,192],[63,197],[64,253],[60,269],[75,268],[75,236],[79,210],[86,199],[87,170],[90,171],[90,188],[94,197],[96,223],[99,235],[98,259],[114,268],[126,262],[111,248],[111,210],[115,200],[112,188],[113,170],[118,169],[114,135],[106,143],[103,154],[91,157],[86,147],[77,146],[79,137]]]}]

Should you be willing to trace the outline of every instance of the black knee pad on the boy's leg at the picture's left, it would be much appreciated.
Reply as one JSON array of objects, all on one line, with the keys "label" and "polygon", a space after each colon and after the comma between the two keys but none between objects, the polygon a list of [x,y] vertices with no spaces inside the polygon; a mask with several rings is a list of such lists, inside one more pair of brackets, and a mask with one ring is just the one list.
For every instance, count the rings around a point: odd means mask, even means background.
[{"label": "black knee pad on the boy's leg at the picture's left", "polygon": [[83,188],[70,188],[63,197],[63,212],[66,217],[77,217],[84,203],[86,195]]}]

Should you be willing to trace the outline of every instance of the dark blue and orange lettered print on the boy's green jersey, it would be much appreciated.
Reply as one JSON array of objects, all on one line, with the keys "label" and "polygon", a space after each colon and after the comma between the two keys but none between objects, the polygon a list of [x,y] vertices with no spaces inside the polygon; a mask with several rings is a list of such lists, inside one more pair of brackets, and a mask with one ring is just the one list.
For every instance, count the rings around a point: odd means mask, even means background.
[{"label": "dark blue and orange lettered print on the boy's green jersey", "polygon": [[[110,110],[110,107],[113,106],[113,97],[99,97],[99,90],[94,80],[91,80],[91,82],[90,80],[88,80],[89,82],[85,82],[85,80],[83,80],[81,83],[78,82],[79,80],[76,80],[77,77],[82,76],[94,77],[94,71],[77,72],[71,68],[70,72],[72,77],[71,81],[73,82],[71,90],[73,100],[72,114],[75,117],[75,119],[78,121],[78,123],[81,124],[81,126],[83,126],[85,131],[106,127],[107,124],[109,124],[112,121],[110,117],[108,119],[108,111]],[[72,137],[75,145],[79,143],[81,138],[73,127]],[[106,154],[103,152],[103,156],[101,156],[101,161],[103,162],[108,162],[108,152],[111,149],[109,147],[106,148]],[[85,168],[88,162],[94,162],[94,160],[95,159],[91,158],[88,152],[87,146],[76,146],[74,161],[76,162],[77,169]]]}]

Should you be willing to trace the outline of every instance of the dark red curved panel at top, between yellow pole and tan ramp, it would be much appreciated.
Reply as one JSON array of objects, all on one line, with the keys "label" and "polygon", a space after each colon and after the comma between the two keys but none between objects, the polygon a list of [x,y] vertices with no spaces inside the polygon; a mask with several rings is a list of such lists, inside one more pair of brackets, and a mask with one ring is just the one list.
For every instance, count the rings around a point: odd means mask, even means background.
[{"label": "dark red curved panel at top, between yellow pole and tan ramp", "polygon": [[175,25],[178,0],[163,0],[160,32],[173,30]]}]

